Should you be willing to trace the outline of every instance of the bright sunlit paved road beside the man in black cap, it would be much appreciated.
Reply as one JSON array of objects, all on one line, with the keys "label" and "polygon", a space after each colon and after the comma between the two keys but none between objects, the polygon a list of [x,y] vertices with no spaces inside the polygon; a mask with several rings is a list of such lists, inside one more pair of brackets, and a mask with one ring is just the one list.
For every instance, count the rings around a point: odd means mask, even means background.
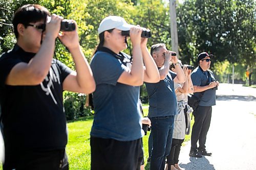
[{"label": "bright sunlit paved road beside the man in black cap", "polygon": [[179,164],[186,170],[256,170],[256,89],[221,84],[212,107],[206,148],[212,156],[189,157],[190,141]]}]

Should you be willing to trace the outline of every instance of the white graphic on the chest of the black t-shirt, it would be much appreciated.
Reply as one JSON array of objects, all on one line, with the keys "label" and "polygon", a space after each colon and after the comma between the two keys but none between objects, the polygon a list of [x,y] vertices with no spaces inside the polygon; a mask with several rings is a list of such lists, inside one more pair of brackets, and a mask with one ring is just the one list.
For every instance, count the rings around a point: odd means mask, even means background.
[{"label": "white graphic on the chest of the black t-shirt", "polygon": [[54,98],[51,87],[52,87],[52,89],[54,89],[53,82],[60,84],[60,81],[59,81],[59,74],[55,74],[56,71],[58,72],[57,68],[54,70],[53,69],[54,69],[54,67],[50,68],[49,74],[46,76],[46,78],[44,80],[44,82],[47,83],[46,87],[44,86],[44,84],[42,82],[40,83],[40,85],[41,85],[42,90],[46,92],[46,95],[50,94],[53,102],[57,105],[57,101]]}]

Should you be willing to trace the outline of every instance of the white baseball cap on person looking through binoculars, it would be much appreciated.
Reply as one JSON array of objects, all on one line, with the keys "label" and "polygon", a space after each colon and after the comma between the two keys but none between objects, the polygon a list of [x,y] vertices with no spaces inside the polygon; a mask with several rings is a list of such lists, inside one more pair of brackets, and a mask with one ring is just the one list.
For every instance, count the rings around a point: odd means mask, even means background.
[{"label": "white baseball cap on person looking through binoculars", "polygon": [[129,31],[134,25],[128,24],[120,16],[107,16],[99,24],[98,34],[111,29],[118,29],[122,31]]}]

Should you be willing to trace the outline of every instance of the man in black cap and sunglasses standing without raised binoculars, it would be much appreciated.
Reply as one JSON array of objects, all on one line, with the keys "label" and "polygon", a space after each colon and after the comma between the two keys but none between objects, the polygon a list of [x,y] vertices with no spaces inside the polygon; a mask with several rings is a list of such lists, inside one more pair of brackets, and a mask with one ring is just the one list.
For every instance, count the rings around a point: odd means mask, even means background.
[{"label": "man in black cap and sunglasses standing without raised binoculars", "polygon": [[[193,112],[195,123],[191,133],[191,149],[189,156],[202,157],[211,156],[205,149],[206,135],[210,127],[211,106],[216,105],[216,89],[219,82],[215,79],[212,71],[209,70],[211,58],[206,52],[198,55],[198,67],[191,73],[191,80],[194,85],[194,95],[200,98],[197,110]],[[199,148],[197,147],[199,141]]]}]

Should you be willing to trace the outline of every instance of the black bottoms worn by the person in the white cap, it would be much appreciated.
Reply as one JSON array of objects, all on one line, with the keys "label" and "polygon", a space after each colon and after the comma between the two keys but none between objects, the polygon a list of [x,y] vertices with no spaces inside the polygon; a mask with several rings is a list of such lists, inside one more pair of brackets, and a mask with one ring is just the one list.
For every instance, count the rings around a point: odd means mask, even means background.
[{"label": "black bottoms worn by the person in the white cap", "polygon": [[91,136],[91,169],[139,170],[143,159],[141,140],[118,141]]}]

